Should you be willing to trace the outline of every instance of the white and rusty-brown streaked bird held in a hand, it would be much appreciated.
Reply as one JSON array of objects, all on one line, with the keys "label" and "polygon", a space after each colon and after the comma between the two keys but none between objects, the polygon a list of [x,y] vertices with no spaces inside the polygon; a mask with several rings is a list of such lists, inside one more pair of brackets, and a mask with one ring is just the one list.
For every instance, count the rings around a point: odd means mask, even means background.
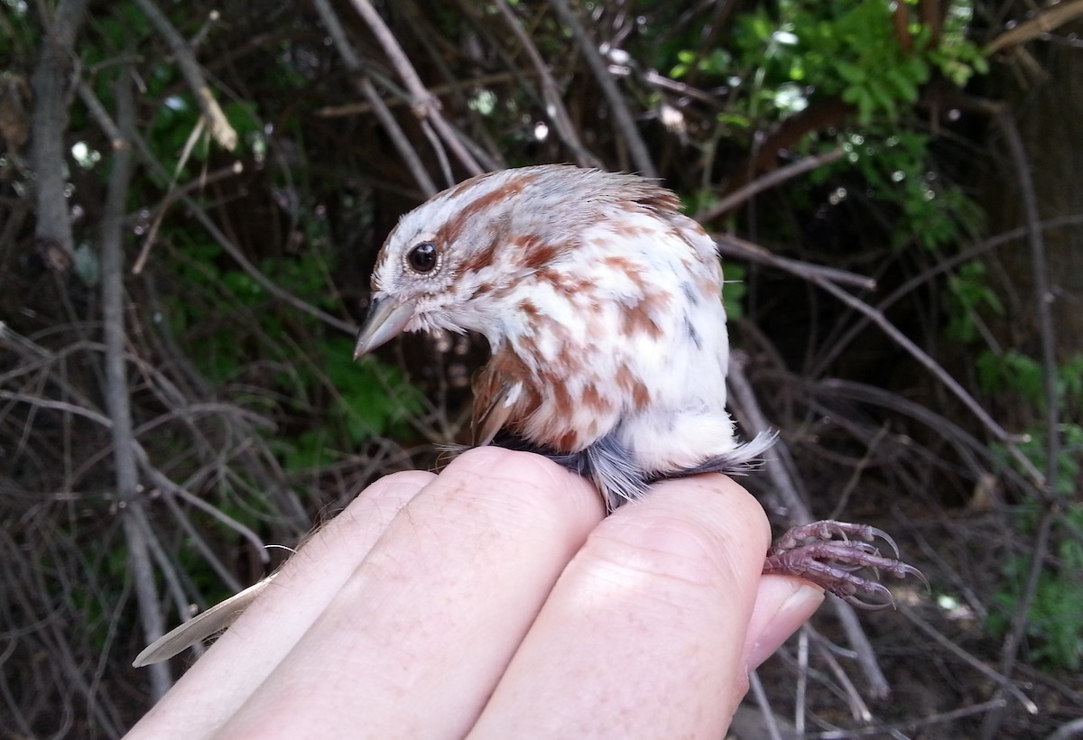
[{"label": "white and rusty-brown streaked bird held in a hand", "polygon": [[[470,178],[400,219],[371,287],[354,359],[403,332],[484,336],[473,445],[549,457],[590,480],[608,511],[661,480],[747,473],[775,442],[774,432],[738,437],[717,247],[652,180],[573,165]],[[880,555],[877,538],[898,557],[876,528],[801,524],[765,554],[764,572],[882,608],[890,592],[859,569],[924,576]],[[134,665],[227,626],[271,577],[159,638]]]}]

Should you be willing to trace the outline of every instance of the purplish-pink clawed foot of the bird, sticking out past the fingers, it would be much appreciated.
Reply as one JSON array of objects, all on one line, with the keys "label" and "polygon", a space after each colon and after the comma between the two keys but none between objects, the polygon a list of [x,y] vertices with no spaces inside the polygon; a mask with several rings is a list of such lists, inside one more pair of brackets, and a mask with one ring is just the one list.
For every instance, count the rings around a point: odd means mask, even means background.
[{"label": "purplish-pink clawed foot of the bird, sticking out past the fingers", "polygon": [[[899,579],[914,575],[928,587],[919,570],[880,555],[872,544],[877,538],[890,545],[898,558],[895,541],[875,527],[833,520],[794,527],[768,550],[764,573],[796,575],[862,609],[884,609],[895,603],[886,586],[858,573],[863,568],[872,568],[877,577],[879,571]],[[863,600],[863,596],[874,600]]]}]

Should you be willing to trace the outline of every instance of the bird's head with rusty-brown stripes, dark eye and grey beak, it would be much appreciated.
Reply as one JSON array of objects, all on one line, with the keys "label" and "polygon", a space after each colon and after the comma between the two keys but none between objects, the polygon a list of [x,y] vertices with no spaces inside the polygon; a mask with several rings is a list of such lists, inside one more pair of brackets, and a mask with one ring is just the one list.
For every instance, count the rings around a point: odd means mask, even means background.
[{"label": "bird's head with rusty-brown stripes, dark eye and grey beak", "polygon": [[614,218],[622,204],[671,210],[676,203],[641,178],[566,165],[459,183],[406,213],[389,234],[354,356],[404,330],[473,330],[496,343],[516,321],[517,287],[574,255],[588,228]]}]

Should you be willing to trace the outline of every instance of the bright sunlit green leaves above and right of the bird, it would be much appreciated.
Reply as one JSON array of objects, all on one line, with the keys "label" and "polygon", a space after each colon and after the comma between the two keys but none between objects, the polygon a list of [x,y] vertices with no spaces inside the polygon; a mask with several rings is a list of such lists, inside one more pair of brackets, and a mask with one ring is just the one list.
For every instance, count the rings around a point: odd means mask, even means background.
[{"label": "bright sunlit green leaves above and right of the bird", "polygon": [[[988,65],[966,37],[969,3],[951,4],[935,46],[931,29],[911,20],[909,48],[900,43],[895,8],[886,0],[759,5],[735,17],[726,49],[677,50],[676,62],[668,66],[675,78],[694,69],[701,79],[731,91],[730,105],[717,114],[717,124],[739,146],[746,145],[742,140],[749,132],[774,126],[817,100],[837,96],[852,104],[857,125],[833,132],[846,156],[813,171],[810,180],[846,182],[856,170],[864,197],[899,209],[892,246],[916,242],[928,249],[951,247],[978,231],[980,210],[939,176],[931,135],[908,128],[903,114],[912,109],[934,70],[963,85]],[[809,139],[794,148],[812,154],[822,147],[823,142]],[[845,191],[839,196],[845,197]]]}]

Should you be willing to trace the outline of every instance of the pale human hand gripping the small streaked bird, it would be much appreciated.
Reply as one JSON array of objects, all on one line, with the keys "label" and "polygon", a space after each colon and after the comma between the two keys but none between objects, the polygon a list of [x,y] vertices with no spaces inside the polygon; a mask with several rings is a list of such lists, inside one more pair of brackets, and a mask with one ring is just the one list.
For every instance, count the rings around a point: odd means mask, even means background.
[{"label": "pale human hand gripping the small streaked bird", "polygon": [[823,599],[761,575],[717,475],[610,517],[548,459],[472,450],[366,489],[131,738],[719,738]]}]

